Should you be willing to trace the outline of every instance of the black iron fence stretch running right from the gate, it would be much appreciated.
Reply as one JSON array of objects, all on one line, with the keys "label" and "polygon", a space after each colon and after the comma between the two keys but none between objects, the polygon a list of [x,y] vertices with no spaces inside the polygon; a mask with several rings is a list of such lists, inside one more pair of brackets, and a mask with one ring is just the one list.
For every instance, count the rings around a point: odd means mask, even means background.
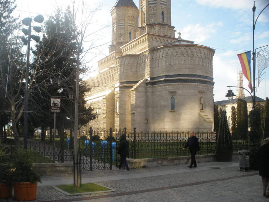
[{"label": "black iron fence stretch running right from the gate", "polygon": [[[126,132],[126,128],[116,130],[116,141],[126,134],[129,143],[129,158],[163,158],[189,155],[183,147],[189,138],[188,132]],[[199,154],[214,154],[216,150],[217,135],[214,132],[196,132],[199,139]],[[239,151],[247,148],[247,142],[243,140],[233,141],[233,150]]]}]

